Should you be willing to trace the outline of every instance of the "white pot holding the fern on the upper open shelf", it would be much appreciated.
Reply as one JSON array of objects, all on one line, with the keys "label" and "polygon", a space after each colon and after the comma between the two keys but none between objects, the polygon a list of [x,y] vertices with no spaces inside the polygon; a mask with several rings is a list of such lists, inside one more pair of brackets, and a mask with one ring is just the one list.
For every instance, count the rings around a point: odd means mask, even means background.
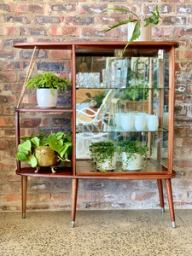
[{"label": "white pot holding the fern on the upper open shelf", "polygon": [[38,108],[55,108],[57,96],[57,89],[54,89],[54,96],[51,94],[50,89],[48,88],[37,89]]}]

